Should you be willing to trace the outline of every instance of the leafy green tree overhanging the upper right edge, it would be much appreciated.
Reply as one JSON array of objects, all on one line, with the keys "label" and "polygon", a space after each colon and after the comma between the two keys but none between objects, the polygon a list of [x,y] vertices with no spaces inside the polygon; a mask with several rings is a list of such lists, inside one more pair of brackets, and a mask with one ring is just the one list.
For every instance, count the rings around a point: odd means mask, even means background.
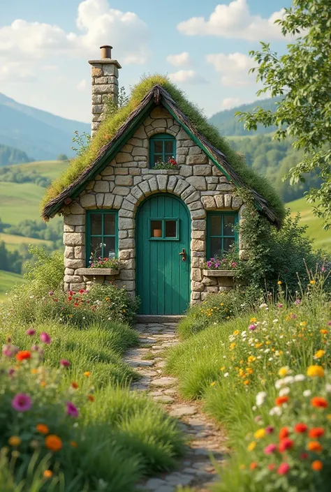
[{"label": "leafy green tree overhanging the upper right edge", "polygon": [[258,62],[257,80],[264,88],[258,96],[281,96],[277,110],[238,112],[245,128],[258,124],[277,126],[274,138],[293,138],[293,147],[302,150],[302,158],[291,167],[286,178],[290,184],[304,182],[304,174],[314,172],[321,183],[306,193],[314,203],[314,213],[331,226],[331,10],[330,0],[293,0],[277,20],[284,36],[297,36],[288,52],[279,56],[270,44],[261,43],[260,51],[251,51]]}]

